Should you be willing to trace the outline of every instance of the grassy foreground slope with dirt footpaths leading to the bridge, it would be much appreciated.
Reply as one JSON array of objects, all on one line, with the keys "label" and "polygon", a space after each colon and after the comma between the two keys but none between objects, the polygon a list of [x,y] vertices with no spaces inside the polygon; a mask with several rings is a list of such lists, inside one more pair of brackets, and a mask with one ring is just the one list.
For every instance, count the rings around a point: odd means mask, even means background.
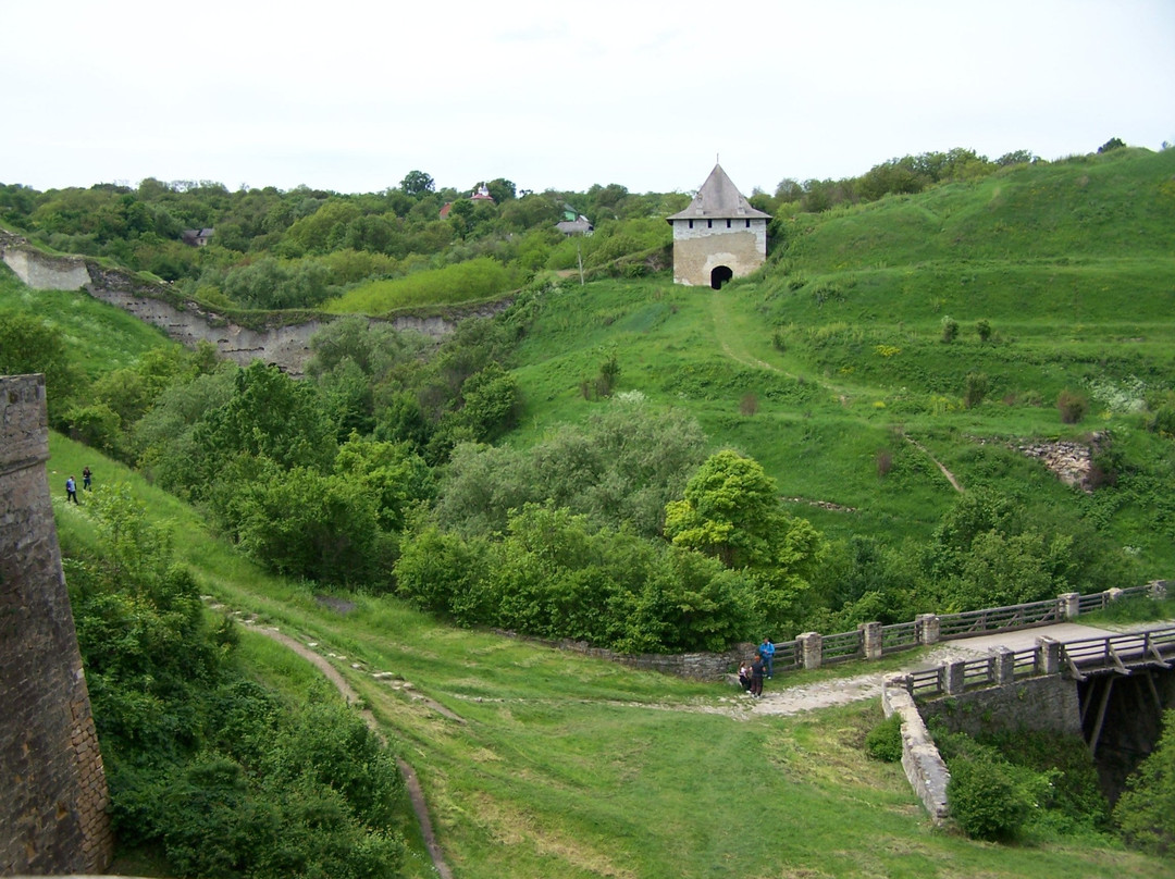
[{"label": "grassy foreground slope with dirt footpaths leading to the bridge", "polygon": [[[126,481],[174,524],[203,589],[335,656],[421,776],[458,877],[1169,874],[1169,863],[1104,843],[992,846],[934,830],[900,769],[860,750],[877,703],[734,719],[712,712],[737,702],[723,685],[449,629],[388,598],[356,597],[343,616],[257,571],[125,468],[56,435],[51,454],[53,485],[86,462],[99,488]],[[67,545],[93,541],[85,501],[66,505],[54,489]],[[246,655],[266,677],[307,686],[268,645],[247,640]],[[417,848],[410,875],[428,875],[424,864]]]}]

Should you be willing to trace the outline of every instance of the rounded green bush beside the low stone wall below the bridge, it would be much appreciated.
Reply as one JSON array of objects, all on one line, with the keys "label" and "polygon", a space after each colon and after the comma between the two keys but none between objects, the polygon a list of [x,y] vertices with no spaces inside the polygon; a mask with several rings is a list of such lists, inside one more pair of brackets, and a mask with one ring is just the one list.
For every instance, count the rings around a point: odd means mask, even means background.
[{"label": "rounded green bush beside the low stone wall below the bridge", "polygon": [[972,839],[1014,839],[1032,804],[1002,760],[976,753],[948,764],[951,817]]}]

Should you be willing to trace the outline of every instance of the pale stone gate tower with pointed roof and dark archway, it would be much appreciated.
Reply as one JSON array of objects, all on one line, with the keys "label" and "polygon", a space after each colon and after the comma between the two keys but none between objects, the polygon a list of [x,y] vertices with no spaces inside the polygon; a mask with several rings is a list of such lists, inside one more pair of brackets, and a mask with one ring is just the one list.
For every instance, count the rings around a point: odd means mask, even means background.
[{"label": "pale stone gate tower with pointed roof and dark archway", "polygon": [[770,214],[757,210],[720,165],[685,210],[666,217],[673,227],[673,283],[720,289],[767,259]]}]

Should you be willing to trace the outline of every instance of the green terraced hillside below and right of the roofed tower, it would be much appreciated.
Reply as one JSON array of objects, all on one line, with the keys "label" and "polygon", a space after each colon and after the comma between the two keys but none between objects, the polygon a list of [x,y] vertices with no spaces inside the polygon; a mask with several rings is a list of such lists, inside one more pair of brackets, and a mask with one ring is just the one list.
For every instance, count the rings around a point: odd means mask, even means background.
[{"label": "green terraced hillside below and right of the roofed tower", "polygon": [[[599,405],[579,384],[615,353],[619,390],[690,409],[716,445],[761,461],[785,496],[852,508],[795,504],[833,535],[925,537],[954,502],[905,431],[965,488],[1096,514],[1140,548],[1149,573],[1169,576],[1175,449],[1093,389],[1175,387],[1173,174],[1175,150],[1010,169],[805,216],[783,260],[720,293],[650,280],[546,294],[523,345],[526,416],[510,441]],[[960,323],[952,344],[947,315]],[[986,343],[981,318],[994,330]],[[971,410],[968,373],[989,382]],[[1061,424],[1053,405],[1066,388],[1092,396],[1081,424]],[[753,416],[740,414],[747,394]],[[1101,429],[1142,472],[1093,499],[1007,448]],[[879,451],[894,462],[885,478]]]}]

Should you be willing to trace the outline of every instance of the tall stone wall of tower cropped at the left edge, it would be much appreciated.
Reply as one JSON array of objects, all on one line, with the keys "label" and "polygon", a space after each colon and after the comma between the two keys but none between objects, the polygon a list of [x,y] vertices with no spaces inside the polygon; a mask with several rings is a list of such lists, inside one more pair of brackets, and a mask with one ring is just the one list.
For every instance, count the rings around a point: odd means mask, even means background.
[{"label": "tall stone wall of tower cropped at the left edge", "polygon": [[0,875],[100,873],[113,851],[48,438],[45,377],[0,377]]}]

